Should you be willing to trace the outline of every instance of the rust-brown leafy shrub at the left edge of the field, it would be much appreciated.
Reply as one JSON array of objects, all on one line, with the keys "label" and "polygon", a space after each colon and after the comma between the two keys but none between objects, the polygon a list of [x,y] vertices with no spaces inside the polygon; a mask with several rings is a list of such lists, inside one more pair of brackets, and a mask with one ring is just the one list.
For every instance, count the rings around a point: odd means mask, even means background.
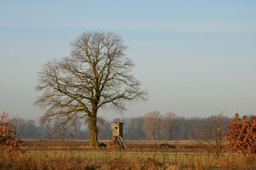
[{"label": "rust-brown leafy shrub at the left edge of the field", "polygon": [[15,139],[17,134],[12,126],[15,122],[8,121],[8,114],[3,113],[0,119],[0,153],[20,153],[20,139]]}]

